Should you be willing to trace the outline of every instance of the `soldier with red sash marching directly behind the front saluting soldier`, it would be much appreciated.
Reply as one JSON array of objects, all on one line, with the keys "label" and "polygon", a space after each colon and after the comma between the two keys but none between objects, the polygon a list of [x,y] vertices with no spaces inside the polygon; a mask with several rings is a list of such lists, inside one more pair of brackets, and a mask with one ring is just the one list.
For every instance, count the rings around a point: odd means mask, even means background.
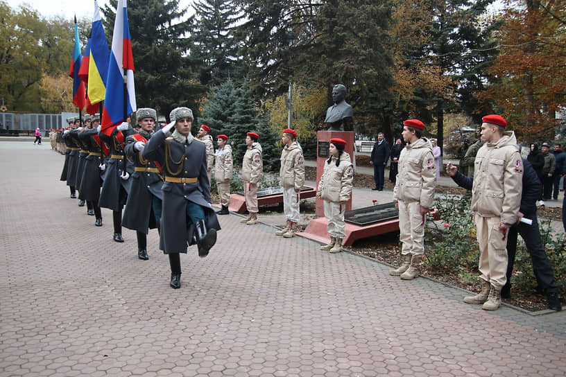
[{"label": "soldier with red sash marching directly behind the front saluting soldier", "polygon": [[134,173],[130,178],[132,186],[126,209],[124,209],[122,224],[137,234],[137,257],[147,261],[148,229],[160,231],[161,202],[163,200],[163,180],[160,166],[155,161],[144,159],[141,151],[153,136],[153,128],[157,121],[157,112],[151,108],[137,109],[137,124],[139,132],[126,137],[124,150],[128,159],[133,161]]}]

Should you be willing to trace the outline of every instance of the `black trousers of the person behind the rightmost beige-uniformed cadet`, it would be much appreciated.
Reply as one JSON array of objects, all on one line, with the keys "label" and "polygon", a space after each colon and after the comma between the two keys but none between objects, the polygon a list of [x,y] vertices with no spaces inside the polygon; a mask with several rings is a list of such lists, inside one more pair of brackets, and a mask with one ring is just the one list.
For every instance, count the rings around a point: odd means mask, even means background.
[{"label": "black trousers of the person behind the rightmost beige-uniformed cadet", "polygon": [[526,249],[529,251],[529,254],[531,254],[533,272],[535,273],[538,286],[547,293],[558,292],[558,288],[554,283],[554,271],[552,270],[549,258],[542,245],[542,239],[540,238],[536,213],[525,217],[533,220],[533,225],[520,222],[509,228],[507,234],[507,283],[505,283],[503,290],[511,289],[511,273],[513,272],[513,264],[515,263],[515,254],[517,254],[517,234],[520,234],[525,242]]}]

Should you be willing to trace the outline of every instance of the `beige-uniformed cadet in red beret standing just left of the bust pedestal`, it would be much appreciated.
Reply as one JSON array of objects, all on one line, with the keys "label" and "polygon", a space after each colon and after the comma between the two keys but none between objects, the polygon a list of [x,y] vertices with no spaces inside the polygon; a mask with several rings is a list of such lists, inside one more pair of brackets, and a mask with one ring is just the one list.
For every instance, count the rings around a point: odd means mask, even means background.
[{"label": "beige-uniformed cadet in red beret standing just left of the bust pedestal", "polygon": [[285,238],[295,236],[297,223],[300,220],[300,189],[302,184],[305,183],[305,159],[302,157],[302,149],[295,139],[297,139],[297,133],[294,130],[291,130],[291,128],[283,130],[281,141],[284,148],[281,151],[279,179],[283,187],[283,212],[287,222],[285,227],[276,231],[275,234]]}]

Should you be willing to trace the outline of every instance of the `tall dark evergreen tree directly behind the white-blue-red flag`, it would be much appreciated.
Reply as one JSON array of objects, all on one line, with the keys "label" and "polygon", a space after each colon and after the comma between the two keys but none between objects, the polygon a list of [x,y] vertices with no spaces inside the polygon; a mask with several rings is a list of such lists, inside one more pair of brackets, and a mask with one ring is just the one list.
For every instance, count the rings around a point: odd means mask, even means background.
[{"label": "tall dark evergreen tree directly behind the white-blue-red flag", "polygon": [[[110,0],[110,6],[103,9],[109,46],[116,6],[117,0]],[[197,116],[196,104],[206,91],[197,80],[198,65],[187,37],[193,30],[194,19],[180,21],[186,12],[187,9],[179,9],[179,0],[128,1],[136,101],[139,107],[153,107],[158,115],[166,117],[179,106],[193,109]]]}]

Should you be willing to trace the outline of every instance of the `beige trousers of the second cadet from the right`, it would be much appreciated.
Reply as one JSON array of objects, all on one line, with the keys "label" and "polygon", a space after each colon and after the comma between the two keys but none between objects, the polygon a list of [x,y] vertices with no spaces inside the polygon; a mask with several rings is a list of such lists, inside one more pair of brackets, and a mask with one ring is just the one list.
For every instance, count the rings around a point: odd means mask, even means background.
[{"label": "beige trousers of the second cadet from the right", "polygon": [[425,218],[420,214],[420,202],[399,204],[399,240],[402,242],[401,254],[425,254]]}]

